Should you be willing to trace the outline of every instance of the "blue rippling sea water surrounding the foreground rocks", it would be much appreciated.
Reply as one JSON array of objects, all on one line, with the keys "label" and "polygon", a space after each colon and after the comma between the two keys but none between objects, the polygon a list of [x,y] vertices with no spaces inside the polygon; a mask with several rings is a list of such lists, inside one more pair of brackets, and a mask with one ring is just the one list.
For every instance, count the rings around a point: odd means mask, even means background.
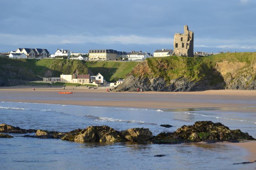
[{"label": "blue rippling sea water surrounding the foreground rocks", "polygon": [[[250,110],[250,108],[244,108]],[[241,112],[241,110],[240,110]],[[149,128],[154,135],[173,132],[198,120],[221,122],[256,138],[256,114],[222,108],[143,109],[0,102],[0,123],[24,129],[67,132],[90,125],[117,131]],[[161,124],[173,127],[164,128]],[[0,138],[0,169],[251,169],[248,152],[227,144],[75,143],[11,134]],[[155,155],[165,155],[156,157]]]}]

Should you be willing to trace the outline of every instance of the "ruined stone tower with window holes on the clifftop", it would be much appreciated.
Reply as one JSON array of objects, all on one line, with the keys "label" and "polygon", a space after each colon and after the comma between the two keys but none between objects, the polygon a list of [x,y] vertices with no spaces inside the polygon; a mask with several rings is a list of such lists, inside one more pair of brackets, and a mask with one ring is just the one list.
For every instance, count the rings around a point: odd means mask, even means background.
[{"label": "ruined stone tower with window holes on the clifftop", "polygon": [[173,46],[175,56],[194,57],[194,33],[188,26],[184,26],[184,34],[175,33]]}]

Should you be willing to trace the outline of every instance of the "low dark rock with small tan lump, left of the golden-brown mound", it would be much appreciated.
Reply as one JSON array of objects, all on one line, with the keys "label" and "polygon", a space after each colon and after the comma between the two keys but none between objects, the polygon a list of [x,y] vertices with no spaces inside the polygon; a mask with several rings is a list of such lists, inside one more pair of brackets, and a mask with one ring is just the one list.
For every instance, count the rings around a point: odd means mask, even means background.
[{"label": "low dark rock with small tan lump, left of the golden-brown mound", "polygon": [[37,130],[35,135],[24,135],[24,137],[35,137],[35,138],[42,138],[42,139],[46,139],[46,138],[60,139],[66,134],[67,132]]}]

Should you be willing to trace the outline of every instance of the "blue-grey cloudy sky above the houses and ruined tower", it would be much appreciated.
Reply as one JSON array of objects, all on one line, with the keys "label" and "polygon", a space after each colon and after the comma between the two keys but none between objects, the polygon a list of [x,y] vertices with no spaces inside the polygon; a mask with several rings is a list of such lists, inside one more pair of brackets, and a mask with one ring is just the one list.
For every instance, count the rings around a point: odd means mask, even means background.
[{"label": "blue-grey cloudy sky above the houses and ruined tower", "polygon": [[17,48],[173,49],[188,25],[194,51],[256,51],[256,0],[0,0],[0,52]]}]

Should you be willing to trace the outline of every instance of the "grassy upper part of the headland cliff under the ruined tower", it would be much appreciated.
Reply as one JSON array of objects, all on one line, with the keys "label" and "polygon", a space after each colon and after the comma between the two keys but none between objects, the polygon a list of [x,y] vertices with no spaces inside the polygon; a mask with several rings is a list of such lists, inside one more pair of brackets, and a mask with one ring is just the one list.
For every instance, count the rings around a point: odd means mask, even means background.
[{"label": "grassy upper part of the headland cliff under the ruined tower", "polygon": [[[165,81],[184,77],[188,81],[209,79],[211,84],[232,81],[243,75],[255,80],[256,53],[225,53],[209,57],[155,57],[146,59],[133,70],[142,77],[162,77]],[[248,79],[248,78],[247,78]],[[241,80],[240,80],[241,81]]]}]

